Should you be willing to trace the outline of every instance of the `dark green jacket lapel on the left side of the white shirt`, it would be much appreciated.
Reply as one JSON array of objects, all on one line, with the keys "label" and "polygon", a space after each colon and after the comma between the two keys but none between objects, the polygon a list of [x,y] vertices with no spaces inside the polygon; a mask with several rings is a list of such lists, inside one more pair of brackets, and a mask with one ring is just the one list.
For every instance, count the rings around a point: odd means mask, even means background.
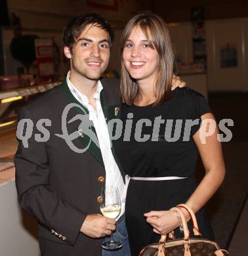
[{"label": "dark green jacket lapel on the left side of the white shirt", "polygon": [[[80,108],[75,108],[75,112],[77,114],[85,116],[83,121],[81,121],[81,124],[75,126],[75,131],[79,133],[79,140],[81,141],[81,144],[83,144],[83,147],[88,147],[87,150],[89,150],[89,152],[94,156],[94,158],[96,158],[96,160],[102,166],[104,166],[104,162],[102,160],[102,153],[100,151],[99,142],[96,135],[96,130],[94,128],[93,122],[89,120],[89,111],[72,95],[66,83],[66,80],[64,80],[62,83],[62,92],[64,93],[66,98],[68,98],[68,103],[78,104],[79,106],[81,106],[81,108],[83,108],[84,111],[82,111]],[[84,123],[86,123],[87,125],[85,126]]]}]

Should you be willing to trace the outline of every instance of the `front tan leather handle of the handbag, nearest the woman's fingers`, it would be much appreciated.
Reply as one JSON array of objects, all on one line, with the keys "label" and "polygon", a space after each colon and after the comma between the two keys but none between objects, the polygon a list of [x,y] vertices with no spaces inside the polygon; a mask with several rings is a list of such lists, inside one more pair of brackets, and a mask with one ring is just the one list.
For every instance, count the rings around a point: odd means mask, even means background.
[{"label": "front tan leather handle of the handbag, nearest the woman's fingers", "polygon": [[[188,231],[188,225],[187,221],[185,219],[184,213],[182,210],[180,210],[177,207],[173,207],[170,209],[171,211],[177,211],[182,219],[182,227],[184,229],[184,256],[190,256],[190,232]],[[159,245],[158,245],[158,253],[157,256],[164,256],[164,251],[163,251],[163,246],[166,244],[166,236],[161,235],[161,238],[159,240]],[[162,243],[161,243],[162,242]]]}]

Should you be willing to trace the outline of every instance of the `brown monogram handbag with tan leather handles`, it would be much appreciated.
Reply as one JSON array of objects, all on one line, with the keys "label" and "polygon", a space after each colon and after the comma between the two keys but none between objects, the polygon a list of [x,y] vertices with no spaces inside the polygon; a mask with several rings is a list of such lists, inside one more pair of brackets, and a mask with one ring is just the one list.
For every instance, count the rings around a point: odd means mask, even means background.
[{"label": "brown monogram handbag with tan leather handles", "polygon": [[[183,207],[190,213],[190,217],[193,222],[193,232],[197,238],[190,238],[190,232],[184,213],[180,209]],[[159,243],[150,244],[144,247],[139,256],[228,256],[228,251],[220,249],[220,245],[216,242],[201,238],[199,232],[196,215],[186,204],[180,204],[171,208],[173,211],[177,211],[182,219],[182,227],[184,232],[184,238],[175,239],[173,231],[167,236],[161,236]]]}]

